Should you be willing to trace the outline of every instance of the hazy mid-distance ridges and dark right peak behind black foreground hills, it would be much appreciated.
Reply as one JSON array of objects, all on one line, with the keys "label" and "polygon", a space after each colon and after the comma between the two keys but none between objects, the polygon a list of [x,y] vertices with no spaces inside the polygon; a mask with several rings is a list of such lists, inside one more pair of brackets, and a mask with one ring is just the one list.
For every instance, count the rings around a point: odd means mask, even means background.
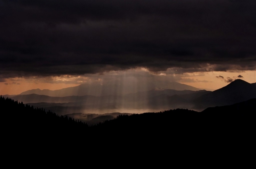
[{"label": "hazy mid-distance ridges and dark right peak behind black foreground hills", "polygon": [[[115,118],[117,116],[116,114],[106,114],[113,112],[122,112],[127,114],[157,112],[177,108],[203,111],[208,107],[231,105],[256,98],[256,83],[250,84],[243,80],[235,80],[227,86],[215,91],[193,91],[188,90],[188,88],[196,88],[188,85],[180,85],[179,87],[178,83],[172,84],[176,84],[176,89],[185,88],[185,90],[155,88],[148,91],[120,95],[115,95],[113,93],[111,95],[111,93],[106,93],[108,95],[81,96],[83,94],[83,88],[85,87],[80,85],[77,87],[54,91],[39,89],[29,90],[20,95],[9,97],[14,100],[19,100],[20,102],[22,101],[25,104],[34,105],[35,107],[43,107],[46,110],[54,111],[59,115],[68,114],[69,117],[77,118],[86,122],[92,119],[88,119],[88,115],[90,114],[98,114],[94,115],[93,118],[99,117],[101,118],[100,120],[102,120],[104,118]],[[79,92],[79,95],[77,96],[47,96],[48,94],[60,95],[60,93],[64,91],[68,91],[68,95],[75,94],[77,91],[81,92]],[[44,92],[44,95],[38,94],[42,94]],[[87,91],[84,93],[86,92]],[[8,95],[5,95],[5,97],[8,97]]]}]

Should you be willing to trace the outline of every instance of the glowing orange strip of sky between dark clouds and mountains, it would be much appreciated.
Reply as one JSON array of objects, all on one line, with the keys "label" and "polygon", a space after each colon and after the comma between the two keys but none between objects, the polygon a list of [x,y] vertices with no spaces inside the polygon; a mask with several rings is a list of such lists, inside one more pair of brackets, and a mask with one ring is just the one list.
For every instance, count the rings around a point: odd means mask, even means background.
[{"label": "glowing orange strip of sky between dark clouds and mountains", "polygon": [[[131,91],[141,90],[139,85],[144,85],[146,90],[147,85],[150,83],[156,85],[158,83],[165,84],[163,88],[168,88],[168,82],[171,81],[208,90],[216,90],[228,85],[227,80],[242,79],[249,83],[256,82],[256,71],[179,73],[176,70],[169,69],[159,73],[152,73],[147,68],[139,67],[126,71],[109,71],[103,74],[7,78],[5,81],[0,82],[0,94],[16,95],[36,88],[57,90],[80,84],[92,85],[91,88],[94,90],[101,90],[98,85],[108,85],[113,86],[113,89],[119,88],[119,92],[122,90],[122,93],[125,93],[126,88],[130,88]],[[218,76],[223,78],[217,78]]]}]

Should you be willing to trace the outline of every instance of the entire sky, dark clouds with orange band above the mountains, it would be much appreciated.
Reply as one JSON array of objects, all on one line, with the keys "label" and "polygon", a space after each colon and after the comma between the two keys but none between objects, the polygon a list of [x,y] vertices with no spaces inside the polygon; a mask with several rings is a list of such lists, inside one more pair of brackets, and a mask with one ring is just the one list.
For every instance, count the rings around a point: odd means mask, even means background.
[{"label": "entire sky, dark clouds with orange band above the mountains", "polygon": [[255,83],[255,9],[255,0],[0,0],[0,94]]}]

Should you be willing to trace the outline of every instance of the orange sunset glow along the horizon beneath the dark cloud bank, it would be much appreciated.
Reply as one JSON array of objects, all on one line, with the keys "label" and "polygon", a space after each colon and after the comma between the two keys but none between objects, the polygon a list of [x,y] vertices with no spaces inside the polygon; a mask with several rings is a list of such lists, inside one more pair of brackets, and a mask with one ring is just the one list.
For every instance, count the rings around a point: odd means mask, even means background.
[{"label": "orange sunset glow along the horizon beneath the dark cloud bank", "polygon": [[[127,77],[127,72],[131,72],[134,76],[133,79],[140,80],[138,73],[147,73],[151,75],[148,81],[177,81],[182,84],[187,84],[196,88],[206,89],[206,90],[216,90],[228,85],[225,80],[227,78],[239,79],[238,75],[241,75],[242,80],[249,83],[256,82],[256,71],[241,71],[241,72],[196,72],[196,73],[183,73],[183,74],[168,74],[166,72],[150,73],[147,69],[135,69],[128,71],[110,71],[104,74],[92,74],[87,76],[52,76],[52,77],[27,77],[27,78],[8,78],[4,82],[0,82],[0,94],[1,95],[17,95],[21,92],[30,89],[50,89],[57,90],[62,88],[74,87],[83,83],[94,84],[94,82],[107,81],[108,77],[111,81],[116,81],[120,77]],[[133,74],[132,74],[133,73]],[[223,78],[217,78],[217,76],[222,76]],[[104,79],[105,78],[105,79]],[[116,79],[115,79],[116,78]]]}]

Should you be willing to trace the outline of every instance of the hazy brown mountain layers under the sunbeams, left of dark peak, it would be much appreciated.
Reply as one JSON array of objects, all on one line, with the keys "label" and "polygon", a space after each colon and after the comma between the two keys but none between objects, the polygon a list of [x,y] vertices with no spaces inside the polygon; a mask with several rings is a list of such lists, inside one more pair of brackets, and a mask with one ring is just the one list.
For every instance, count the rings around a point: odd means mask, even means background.
[{"label": "hazy brown mountain layers under the sunbeams, left of dark peak", "polygon": [[[143,113],[180,107],[192,108],[190,96],[186,99],[178,99],[174,95],[198,93],[200,96],[203,92],[207,92],[177,82],[138,84],[140,86],[138,88],[129,86],[126,88],[125,85],[129,84],[124,84],[123,92],[119,91],[120,87],[118,86],[83,84],[54,91],[33,89],[20,95],[5,95],[5,97],[8,96],[23,103],[44,107],[46,110],[52,110],[59,115],[65,115],[71,113]],[[147,88],[153,89],[145,91]]]}]

